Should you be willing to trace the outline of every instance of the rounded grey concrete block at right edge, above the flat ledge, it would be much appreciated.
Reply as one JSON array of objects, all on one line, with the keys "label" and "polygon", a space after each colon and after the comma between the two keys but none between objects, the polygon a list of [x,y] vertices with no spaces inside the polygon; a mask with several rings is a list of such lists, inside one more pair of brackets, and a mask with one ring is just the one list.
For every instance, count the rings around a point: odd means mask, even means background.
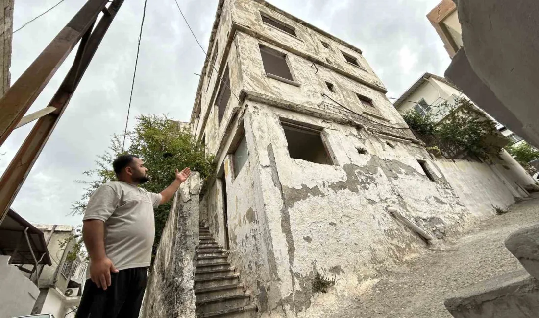
[{"label": "rounded grey concrete block at right edge, above the flat ledge", "polygon": [[539,224],[513,232],[505,245],[528,273],[539,279]]}]

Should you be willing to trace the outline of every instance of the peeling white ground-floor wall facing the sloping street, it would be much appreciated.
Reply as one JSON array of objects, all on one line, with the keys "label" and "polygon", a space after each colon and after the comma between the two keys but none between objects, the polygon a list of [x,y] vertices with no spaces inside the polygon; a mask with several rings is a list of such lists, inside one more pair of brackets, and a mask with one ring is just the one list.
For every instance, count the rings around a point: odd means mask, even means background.
[{"label": "peeling white ground-floor wall facing the sloping street", "polygon": [[[247,113],[246,134],[253,134],[247,138],[249,160],[264,201],[256,215],[265,216],[275,260],[269,278],[280,282],[279,295],[268,295],[268,290],[274,293],[269,286],[274,281],[260,277],[258,290],[252,290],[266,294],[267,304],[261,307],[267,315],[330,313],[343,305],[341,296],[347,294],[349,301],[371,284],[377,268],[423,249],[424,241],[386,213],[388,207],[439,238],[475,220],[422,147],[393,140],[390,146],[355,128],[260,103],[249,103]],[[337,165],[291,159],[280,117],[324,127]],[[438,181],[426,178],[416,158],[429,162]],[[236,227],[231,222],[229,230]],[[241,239],[242,244],[252,241]],[[316,271],[337,277],[332,296],[313,294]]]}]

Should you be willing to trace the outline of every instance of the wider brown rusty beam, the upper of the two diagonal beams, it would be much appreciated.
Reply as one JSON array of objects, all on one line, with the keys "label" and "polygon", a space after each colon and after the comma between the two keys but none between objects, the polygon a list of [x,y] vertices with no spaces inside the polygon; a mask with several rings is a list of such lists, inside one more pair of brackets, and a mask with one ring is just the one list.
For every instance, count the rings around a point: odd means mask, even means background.
[{"label": "wider brown rusty beam, the upper of the two diagonal beams", "polygon": [[23,118],[108,0],[88,0],[0,99],[0,146]]}]

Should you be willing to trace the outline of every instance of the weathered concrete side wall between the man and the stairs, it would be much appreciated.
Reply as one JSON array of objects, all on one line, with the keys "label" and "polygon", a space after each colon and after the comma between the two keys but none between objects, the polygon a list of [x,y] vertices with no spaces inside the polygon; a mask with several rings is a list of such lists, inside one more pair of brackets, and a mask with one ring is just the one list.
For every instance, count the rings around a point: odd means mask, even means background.
[{"label": "weathered concrete side wall between the man and the stairs", "polygon": [[148,278],[141,317],[195,317],[194,259],[201,177],[192,174],[174,196]]}]

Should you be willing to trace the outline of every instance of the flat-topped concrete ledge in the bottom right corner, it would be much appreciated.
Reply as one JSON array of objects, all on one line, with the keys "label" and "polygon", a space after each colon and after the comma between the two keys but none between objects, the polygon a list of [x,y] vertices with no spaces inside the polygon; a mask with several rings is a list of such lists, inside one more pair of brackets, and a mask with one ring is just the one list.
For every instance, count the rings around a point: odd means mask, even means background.
[{"label": "flat-topped concrete ledge in the bottom right corner", "polygon": [[455,318],[531,318],[539,313],[539,281],[525,270],[462,289],[444,302]]}]

